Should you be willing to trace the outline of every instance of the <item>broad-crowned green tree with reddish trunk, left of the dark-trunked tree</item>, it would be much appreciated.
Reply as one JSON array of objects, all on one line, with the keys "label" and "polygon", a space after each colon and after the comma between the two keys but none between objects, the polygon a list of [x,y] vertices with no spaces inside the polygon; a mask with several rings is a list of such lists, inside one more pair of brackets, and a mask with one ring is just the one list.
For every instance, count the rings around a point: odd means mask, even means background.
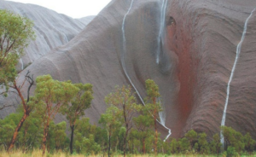
[{"label": "broad-crowned green tree with reddish trunk, left of the dark-trunked tree", "polygon": [[37,87],[32,102],[37,103],[38,106],[41,106],[40,109],[44,111],[42,149],[43,154],[45,154],[49,122],[55,118],[62,105],[67,105],[68,102],[71,102],[76,93],[79,92],[79,88],[72,84],[71,81],[61,82],[54,80],[50,75],[39,76],[36,81]]}]

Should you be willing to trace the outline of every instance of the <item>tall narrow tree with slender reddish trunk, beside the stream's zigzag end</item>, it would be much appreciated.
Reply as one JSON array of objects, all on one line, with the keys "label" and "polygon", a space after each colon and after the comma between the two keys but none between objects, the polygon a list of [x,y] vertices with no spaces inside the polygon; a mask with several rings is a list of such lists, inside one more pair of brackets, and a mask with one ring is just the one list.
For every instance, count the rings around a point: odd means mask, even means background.
[{"label": "tall narrow tree with slender reddish trunk, beside the stream's zigzag end", "polygon": [[148,103],[146,106],[148,106],[149,113],[152,113],[154,117],[154,154],[157,154],[158,133],[156,124],[159,112],[161,111],[160,103],[157,102],[157,98],[160,97],[159,87],[154,83],[154,80],[147,79],[146,90],[148,95]]}]

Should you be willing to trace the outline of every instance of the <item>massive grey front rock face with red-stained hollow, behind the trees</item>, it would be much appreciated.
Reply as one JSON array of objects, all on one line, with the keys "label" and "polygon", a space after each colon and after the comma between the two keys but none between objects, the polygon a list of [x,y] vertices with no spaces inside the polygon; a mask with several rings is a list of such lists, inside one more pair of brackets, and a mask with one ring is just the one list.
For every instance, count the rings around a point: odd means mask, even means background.
[{"label": "massive grey front rock face with red-stained hollow, behind the trees", "polygon": [[[130,0],[113,0],[75,38],[20,73],[20,80],[30,70],[35,76],[49,73],[56,79],[93,84],[95,99],[85,113],[96,123],[106,109],[104,96],[116,84],[130,84],[120,63],[121,25],[130,3]],[[157,64],[160,2],[134,0],[125,22],[125,66],[143,97],[146,79],[153,78],[159,84],[166,126],[172,129],[172,137],[181,137],[190,129],[206,131],[210,136],[219,132],[236,45],[254,7],[254,0],[169,0],[166,42]],[[241,46],[226,117],[226,125],[242,133],[249,131],[253,137],[256,137],[255,24],[256,12]],[[15,100],[10,97],[2,103]],[[164,129],[162,133],[166,135]]]}]

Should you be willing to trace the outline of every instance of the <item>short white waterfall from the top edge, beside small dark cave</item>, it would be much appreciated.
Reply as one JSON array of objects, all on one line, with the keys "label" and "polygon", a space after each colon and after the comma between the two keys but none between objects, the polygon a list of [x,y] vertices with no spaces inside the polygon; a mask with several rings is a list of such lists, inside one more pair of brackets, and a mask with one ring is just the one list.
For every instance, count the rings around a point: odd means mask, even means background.
[{"label": "short white waterfall from the top edge, beside small dark cave", "polygon": [[160,62],[160,53],[163,47],[163,44],[165,43],[165,30],[166,30],[166,6],[167,6],[167,0],[160,0],[160,31],[157,38],[157,52],[156,52],[156,63],[159,64]]}]

